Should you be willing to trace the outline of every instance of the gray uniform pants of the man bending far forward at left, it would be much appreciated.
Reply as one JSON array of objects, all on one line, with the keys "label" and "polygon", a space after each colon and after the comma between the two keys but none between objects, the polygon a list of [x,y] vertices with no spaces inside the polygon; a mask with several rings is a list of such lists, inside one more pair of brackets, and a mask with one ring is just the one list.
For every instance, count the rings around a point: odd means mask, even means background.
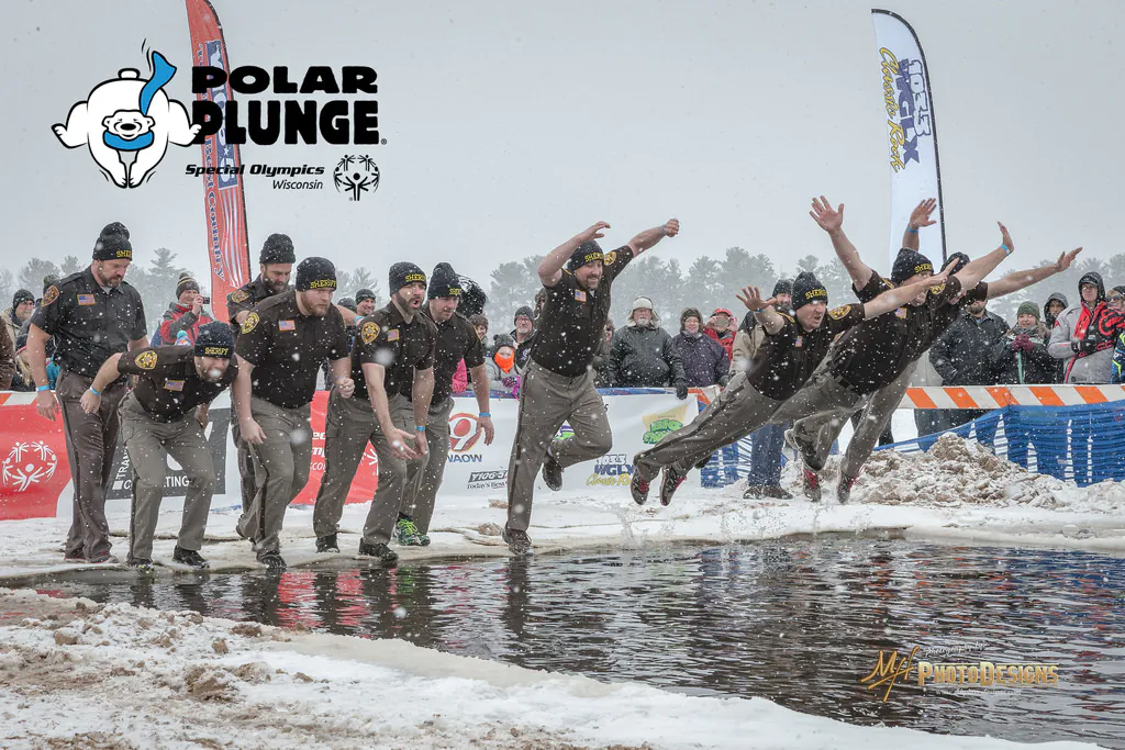
[{"label": "gray uniform pants of the man bending far forward at left", "polygon": [[133,464],[129,554],[152,558],[152,539],[164,494],[165,453],[176,459],[188,478],[177,544],[198,552],[204,544],[207,513],[215,493],[215,467],[195,413],[189,412],[176,422],[159,422],[148,416],[130,394],[122,405],[122,439]]}]

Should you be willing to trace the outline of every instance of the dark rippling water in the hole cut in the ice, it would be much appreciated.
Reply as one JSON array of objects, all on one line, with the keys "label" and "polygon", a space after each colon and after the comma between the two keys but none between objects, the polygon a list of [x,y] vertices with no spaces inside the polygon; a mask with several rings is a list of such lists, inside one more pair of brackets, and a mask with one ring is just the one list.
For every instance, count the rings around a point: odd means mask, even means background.
[{"label": "dark rippling water in the hole cut in the ice", "polygon": [[[855,724],[1125,748],[1125,559],[1086,552],[820,536],[39,588],[760,696]],[[861,683],[880,650],[915,645],[916,662],[1058,663],[1058,685],[922,688],[916,669],[884,703],[885,685]]]}]

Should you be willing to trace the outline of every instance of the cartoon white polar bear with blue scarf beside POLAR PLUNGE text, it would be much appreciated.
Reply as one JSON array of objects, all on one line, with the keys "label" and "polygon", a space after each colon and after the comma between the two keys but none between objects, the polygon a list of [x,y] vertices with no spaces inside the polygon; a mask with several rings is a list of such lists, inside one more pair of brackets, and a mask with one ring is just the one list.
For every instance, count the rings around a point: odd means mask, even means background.
[{"label": "cartoon white polar bear with blue scarf beside POLAR PLUNGE text", "polygon": [[89,145],[93,161],[118,188],[138,187],[164,157],[169,143],[189,146],[199,133],[183,105],[163,91],[176,66],[159,52],[152,53],[148,65],[147,81],[126,67],[71,107],[66,125],[51,128],[68,148]]}]

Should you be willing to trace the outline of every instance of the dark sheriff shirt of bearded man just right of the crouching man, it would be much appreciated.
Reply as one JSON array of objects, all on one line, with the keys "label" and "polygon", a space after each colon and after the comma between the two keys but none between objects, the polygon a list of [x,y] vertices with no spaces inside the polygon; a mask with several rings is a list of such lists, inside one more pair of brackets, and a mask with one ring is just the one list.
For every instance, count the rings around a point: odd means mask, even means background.
[{"label": "dark sheriff shirt of bearded man just right of the crouching man", "polygon": [[313,400],[321,362],[348,356],[348,334],[334,305],[323,318],[302,315],[297,292],[289,290],[258,304],[242,323],[235,351],[254,365],[254,396],[297,409]]}]

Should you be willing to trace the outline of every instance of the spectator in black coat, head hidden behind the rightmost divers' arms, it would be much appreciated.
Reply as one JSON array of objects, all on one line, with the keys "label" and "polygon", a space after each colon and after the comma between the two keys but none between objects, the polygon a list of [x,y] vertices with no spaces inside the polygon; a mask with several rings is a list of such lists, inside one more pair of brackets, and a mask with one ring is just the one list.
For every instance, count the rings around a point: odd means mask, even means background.
[{"label": "spectator in black coat, head hidden behind the rightmost divers' arms", "polygon": [[[987,300],[970,302],[961,316],[929,350],[929,361],[946,386],[994,386],[998,363],[990,355],[1008,333],[1004,318],[989,313]],[[982,409],[952,409],[950,426],[956,427],[986,414]],[[996,425],[980,426],[976,439],[991,444]]]}]

